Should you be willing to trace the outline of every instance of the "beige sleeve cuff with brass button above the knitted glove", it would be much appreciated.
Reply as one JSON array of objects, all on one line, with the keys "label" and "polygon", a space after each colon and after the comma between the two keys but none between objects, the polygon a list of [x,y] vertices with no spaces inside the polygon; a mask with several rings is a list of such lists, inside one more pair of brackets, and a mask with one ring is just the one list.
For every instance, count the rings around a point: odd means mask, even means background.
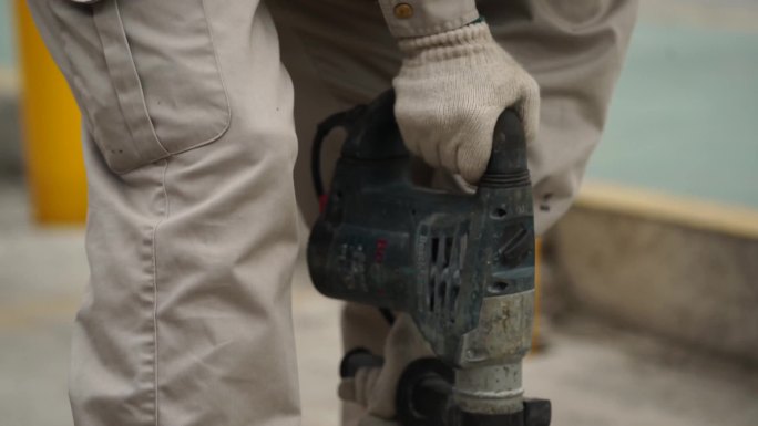
[{"label": "beige sleeve cuff with brass button above the knitted glove", "polygon": [[474,0],[379,0],[379,4],[396,38],[438,34],[479,18]]}]

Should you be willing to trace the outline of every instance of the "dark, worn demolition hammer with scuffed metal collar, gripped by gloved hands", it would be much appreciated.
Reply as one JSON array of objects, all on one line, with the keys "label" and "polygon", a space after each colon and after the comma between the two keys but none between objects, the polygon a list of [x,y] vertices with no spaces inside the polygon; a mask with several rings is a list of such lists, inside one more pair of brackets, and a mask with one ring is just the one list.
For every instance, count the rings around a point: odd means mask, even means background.
[{"label": "dark, worn demolition hammer with scuffed metal collar, gripped by gloved hands", "polygon": [[[308,269],[327,297],[408,313],[437,357],[412,362],[397,389],[403,426],[547,426],[546,399],[523,397],[522,359],[534,318],[534,222],[526,146],[518,115],[495,125],[475,194],[419,186],[393,115],[395,93],[318,126],[311,168],[322,211]],[[347,137],[329,193],[320,150]],[[354,351],[340,374],[381,359]]]}]

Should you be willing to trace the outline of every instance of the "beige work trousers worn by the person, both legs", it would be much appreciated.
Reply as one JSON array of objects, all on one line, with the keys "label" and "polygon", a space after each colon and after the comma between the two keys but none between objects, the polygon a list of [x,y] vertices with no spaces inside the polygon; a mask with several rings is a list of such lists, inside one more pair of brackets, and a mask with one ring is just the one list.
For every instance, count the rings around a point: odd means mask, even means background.
[{"label": "beige work trousers worn by the person, both legs", "polygon": [[[296,194],[313,220],[315,124],[389,87],[399,66],[378,4],[29,4],[82,110],[91,282],[72,341],[75,424],[297,425]],[[541,229],[598,142],[635,7],[479,2],[542,89],[530,147]],[[345,344],[379,351],[382,328],[348,306]]]}]

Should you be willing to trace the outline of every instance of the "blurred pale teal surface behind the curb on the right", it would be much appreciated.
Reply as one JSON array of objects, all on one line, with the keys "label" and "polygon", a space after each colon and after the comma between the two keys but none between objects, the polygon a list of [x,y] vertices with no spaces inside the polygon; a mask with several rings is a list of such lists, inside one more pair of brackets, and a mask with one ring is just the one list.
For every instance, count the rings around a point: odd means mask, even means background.
[{"label": "blurred pale teal surface behind the curb on the right", "polygon": [[641,22],[586,177],[758,208],[758,33]]}]

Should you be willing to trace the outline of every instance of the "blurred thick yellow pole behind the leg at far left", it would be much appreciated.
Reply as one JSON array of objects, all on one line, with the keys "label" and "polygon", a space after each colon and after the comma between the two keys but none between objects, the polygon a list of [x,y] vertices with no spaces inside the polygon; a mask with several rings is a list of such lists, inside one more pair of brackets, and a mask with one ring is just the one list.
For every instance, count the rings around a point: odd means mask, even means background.
[{"label": "blurred thick yellow pole behind the leg at far left", "polygon": [[16,1],[22,137],[34,219],[81,224],[86,184],[80,116],[63,75],[34,28],[25,0]]}]

